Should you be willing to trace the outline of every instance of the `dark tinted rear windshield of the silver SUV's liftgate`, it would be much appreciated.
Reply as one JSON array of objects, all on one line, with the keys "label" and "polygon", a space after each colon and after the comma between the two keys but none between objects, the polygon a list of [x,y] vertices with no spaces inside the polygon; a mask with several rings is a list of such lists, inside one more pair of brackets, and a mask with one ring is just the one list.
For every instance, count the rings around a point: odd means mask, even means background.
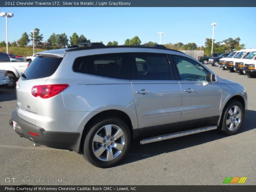
[{"label": "dark tinted rear windshield of the silver SUV's liftgate", "polygon": [[26,69],[22,80],[39,79],[51,76],[59,67],[63,58],[36,57]]}]

